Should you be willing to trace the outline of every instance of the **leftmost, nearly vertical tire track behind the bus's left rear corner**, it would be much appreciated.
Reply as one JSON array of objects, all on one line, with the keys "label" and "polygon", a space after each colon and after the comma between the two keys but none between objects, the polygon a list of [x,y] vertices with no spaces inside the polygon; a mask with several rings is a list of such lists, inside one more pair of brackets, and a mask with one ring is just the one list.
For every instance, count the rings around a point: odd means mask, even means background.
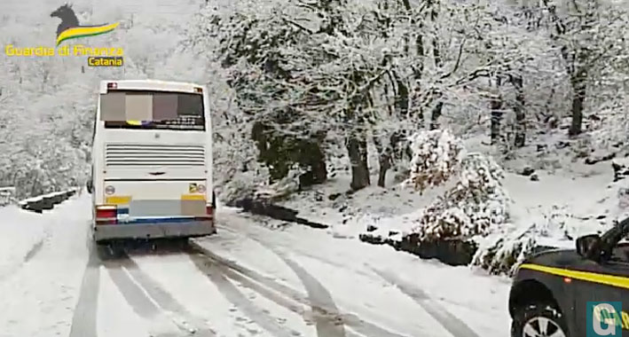
[{"label": "leftmost, nearly vertical tire track behind the bus's left rear corner", "polygon": [[90,257],[83,272],[81,293],[76,302],[69,337],[96,337],[96,311],[100,287],[100,262],[97,248],[90,246]]}]

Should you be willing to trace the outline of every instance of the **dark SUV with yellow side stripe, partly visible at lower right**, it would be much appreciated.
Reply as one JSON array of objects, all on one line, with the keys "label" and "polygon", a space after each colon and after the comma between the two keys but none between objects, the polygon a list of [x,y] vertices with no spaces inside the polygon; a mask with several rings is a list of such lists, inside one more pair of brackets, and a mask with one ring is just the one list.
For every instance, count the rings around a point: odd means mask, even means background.
[{"label": "dark SUV with yellow side stripe, partly visible at lower right", "polygon": [[511,336],[586,337],[587,302],[622,302],[622,312],[609,310],[614,320],[602,320],[599,329],[613,329],[603,322],[615,322],[617,331],[629,336],[629,243],[621,242],[628,232],[629,218],[601,236],[578,238],[576,250],[555,249],[525,260],[509,295]]}]

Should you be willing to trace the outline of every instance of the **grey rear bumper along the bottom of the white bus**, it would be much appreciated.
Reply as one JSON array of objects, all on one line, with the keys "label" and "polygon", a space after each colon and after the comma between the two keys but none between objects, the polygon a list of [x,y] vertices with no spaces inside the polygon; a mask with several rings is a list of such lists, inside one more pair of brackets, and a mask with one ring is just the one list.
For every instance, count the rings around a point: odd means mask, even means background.
[{"label": "grey rear bumper along the bottom of the white bus", "polygon": [[185,223],[133,223],[94,226],[96,242],[111,239],[193,238],[216,233],[214,221]]}]

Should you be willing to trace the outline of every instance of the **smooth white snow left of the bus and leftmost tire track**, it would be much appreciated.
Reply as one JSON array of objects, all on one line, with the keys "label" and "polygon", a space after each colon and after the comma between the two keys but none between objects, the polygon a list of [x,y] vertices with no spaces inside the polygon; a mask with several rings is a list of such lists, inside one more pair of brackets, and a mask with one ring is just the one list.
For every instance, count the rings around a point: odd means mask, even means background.
[{"label": "smooth white snow left of the bus and leftmost tire track", "polygon": [[[0,307],[5,309],[0,316],[0,335],[44,337],[69,333],[87,262],[89,205],[90,199],[83,196],[43,215],[0,208],[0,214],[11,220],[0,224],[2,238],[6,239],[3,243],[15,252],[2,255],[0,260],[13,265],[10,274],[0,280],[0,294],[10,294],[0,296]],[[41,247],[32,250],[37,242],[42,242]],[[29,250],[31,256],[24,261]]]}]

